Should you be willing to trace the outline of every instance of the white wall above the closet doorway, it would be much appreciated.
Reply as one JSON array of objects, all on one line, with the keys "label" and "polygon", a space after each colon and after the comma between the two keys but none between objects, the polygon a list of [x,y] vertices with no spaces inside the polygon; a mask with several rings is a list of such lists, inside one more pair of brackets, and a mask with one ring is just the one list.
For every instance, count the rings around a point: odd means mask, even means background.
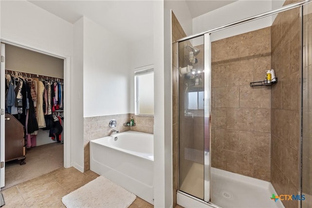
[{"label": "white wall above the closet doorway", "polygon": [[1,38],[71,56],[73,25],[28,1],[0,1]]}]

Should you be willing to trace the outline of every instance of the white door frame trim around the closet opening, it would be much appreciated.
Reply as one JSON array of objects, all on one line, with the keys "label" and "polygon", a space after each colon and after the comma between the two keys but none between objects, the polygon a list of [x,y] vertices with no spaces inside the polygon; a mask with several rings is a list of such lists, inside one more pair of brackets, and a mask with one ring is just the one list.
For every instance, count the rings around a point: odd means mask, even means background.
[{"label": "white door frame trim around the closet opening", "polygon": [[71,111],[70,111],[70,105],[71,105],[71,97],[70,97],[70,86],[71,86],[71,57],[59,55],[50,51],[45,51],[39,48],[35,48],[32,46],[28,46],[19,42],[11,41],[5,38],[0,38],[0,42],[4,44],[10,44],[16,47],[20,47],[26,50],[34,51],[40,54],[44,54],[51,57],[57,57],[64,60],[64,128],[63,128],[63,134],[64,134],[64,168],[70,168],[71,167],[71,126],[70,126],[70,120],[71,120]]}]

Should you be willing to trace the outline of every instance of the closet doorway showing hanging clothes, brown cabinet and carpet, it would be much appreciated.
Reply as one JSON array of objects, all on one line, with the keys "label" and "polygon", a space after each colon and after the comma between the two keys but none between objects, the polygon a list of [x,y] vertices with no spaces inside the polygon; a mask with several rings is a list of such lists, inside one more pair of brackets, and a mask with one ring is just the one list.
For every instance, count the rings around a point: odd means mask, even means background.
[{"label": "closet doorway showing hanging clothes, brown cabinet and carpet", "polygon": [[[1,189],[7,189],[64,167],[65,59],[7,43],[1,43],[1,48],[1,56],[5,55],[1,75],[4,71],[6,85],[5,183]],[[16,92],[15,103],[7,93],[10,85]],[[15,136],[20,128],[24,132],[22,139]],[[21,153],[10,157],[12,151]]]}]

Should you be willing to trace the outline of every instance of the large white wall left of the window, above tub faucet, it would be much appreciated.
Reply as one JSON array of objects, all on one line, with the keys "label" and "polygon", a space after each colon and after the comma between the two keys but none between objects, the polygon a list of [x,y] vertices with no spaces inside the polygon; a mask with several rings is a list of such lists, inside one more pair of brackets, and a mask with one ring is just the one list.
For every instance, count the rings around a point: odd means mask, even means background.
[{"label": "large white wall left of the window, above tub faucet", "polygon": [[90,19],[83,24],[84,117],[129,113],[129,44]]}]

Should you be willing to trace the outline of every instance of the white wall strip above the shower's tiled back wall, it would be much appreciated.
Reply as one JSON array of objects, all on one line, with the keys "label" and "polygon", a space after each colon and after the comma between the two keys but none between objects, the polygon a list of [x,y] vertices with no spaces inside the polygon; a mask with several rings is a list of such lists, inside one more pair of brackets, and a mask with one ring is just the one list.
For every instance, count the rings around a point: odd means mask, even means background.
[{"label": "white wall strip above the shower's tiled back wall", "polygon": [[[245,19],[272,10],[270,0],[238,0],[193,19],[193,33],[213,29],[237,20]],[[272,17],[244,23],[212,35],[212,40],[228,38],[272,25]],[[197,45],[197,43],[194,43]]]}]

